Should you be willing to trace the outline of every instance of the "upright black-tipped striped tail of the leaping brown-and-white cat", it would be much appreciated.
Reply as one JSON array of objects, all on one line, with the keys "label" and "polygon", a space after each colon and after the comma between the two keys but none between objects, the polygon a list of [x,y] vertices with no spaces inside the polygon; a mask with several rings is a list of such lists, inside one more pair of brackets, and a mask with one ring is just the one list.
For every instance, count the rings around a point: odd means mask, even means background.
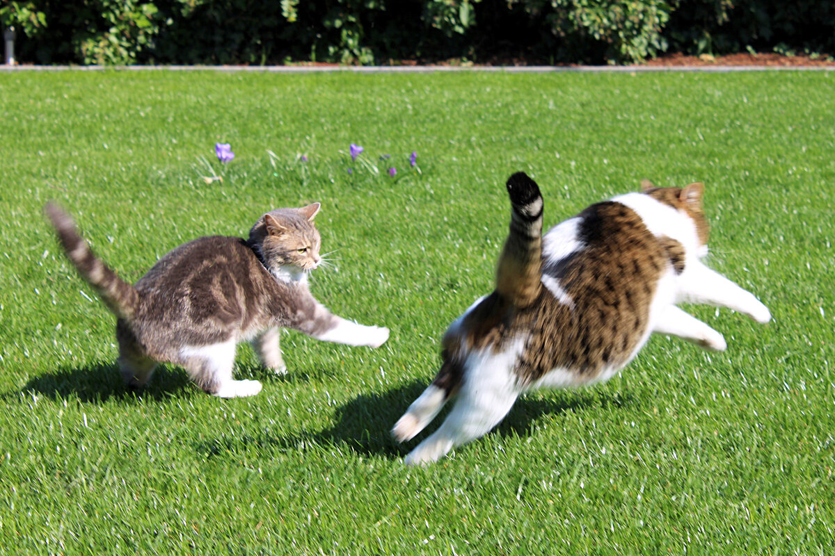
[{"label": "upright black-tipped striped tail of the leaping brown-and-white cat", "polygon": [[496,270],[496,291],[515,307],[534,303],[542,287],[542,195],[524,172],[508,179],[510,233]]}]

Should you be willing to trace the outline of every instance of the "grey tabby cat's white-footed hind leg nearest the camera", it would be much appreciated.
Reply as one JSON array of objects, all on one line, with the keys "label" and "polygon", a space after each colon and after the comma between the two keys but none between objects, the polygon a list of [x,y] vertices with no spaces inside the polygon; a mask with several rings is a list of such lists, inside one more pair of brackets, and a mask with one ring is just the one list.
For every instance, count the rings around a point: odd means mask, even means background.
[{"label": "grey tabby cat's white-footed hind leg nearest the camera", "polygon": [[192,380],[218,398],[245,398],[261,392],[257,380],[234,380],[235,341],[180,348],[179,363]]}]

